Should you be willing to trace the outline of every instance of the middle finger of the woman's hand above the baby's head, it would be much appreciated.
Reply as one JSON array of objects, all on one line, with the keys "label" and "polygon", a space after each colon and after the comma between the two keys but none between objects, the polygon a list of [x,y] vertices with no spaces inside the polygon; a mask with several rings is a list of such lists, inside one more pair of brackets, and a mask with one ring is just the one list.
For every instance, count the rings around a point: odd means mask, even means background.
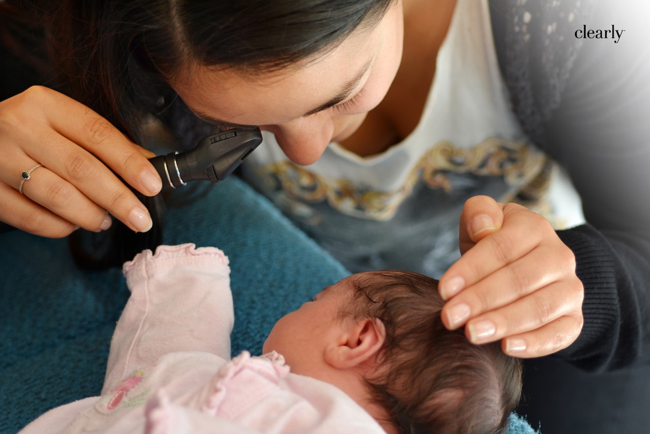
[{"label": "middle finger of the woman's hand above the baby's head", "polygon": [[[538,247],[525,257],[465,288],[443,307],[443,321],[447,319],[445,324],[448,328],[456,329],[462,325],[458,321],[463,321],[463,318],[455,312],[469,311],[467,318],[472,318],[513,303],[552,282],[564,282],[562,279],[570,276],[572,270],[567,264],[562,264],[555,252],[550,246]],[[545,266],[540,267],[539,264]],[[461,305],[466,307],[459,308]]]}]

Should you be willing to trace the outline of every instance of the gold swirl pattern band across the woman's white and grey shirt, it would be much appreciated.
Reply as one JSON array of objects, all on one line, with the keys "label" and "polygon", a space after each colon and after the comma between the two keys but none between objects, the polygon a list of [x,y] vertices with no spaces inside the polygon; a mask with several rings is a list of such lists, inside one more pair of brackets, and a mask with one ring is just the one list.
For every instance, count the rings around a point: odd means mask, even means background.
[{"label": "gold swirl pattern band across the woman's white and grey shirt", "polygon": [[[272,189],[276,193],[284,191],[303,202],[326,200],[342,213],[386,221],[395,215],[419,181],[432,189],[452,191],[454,183],[450,174],[502,176],[508,185],[525,189],[526,206],[532,206],[548,187],[550,167],[547,157],[534,148],[491,138],[467,149],[447,141],[438,142],[413,166],[402,187],[394,191],[377,191],[343,178],[331,179],[289,161],[266,165],[261,174],[270,182],[268,185],[274,185]],[[517,201],[517,197],[499,200]]]}]

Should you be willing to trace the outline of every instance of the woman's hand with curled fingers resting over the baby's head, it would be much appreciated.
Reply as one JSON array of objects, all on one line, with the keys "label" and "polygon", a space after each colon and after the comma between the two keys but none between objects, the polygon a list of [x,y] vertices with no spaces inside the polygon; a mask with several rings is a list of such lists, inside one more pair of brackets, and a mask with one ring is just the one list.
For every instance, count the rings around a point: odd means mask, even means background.
[{"label": "woman's hand with curled fingers resting over the baby's head", "polygon": [[475,344],[502,340],[514,357],[549,355],[582,329],[575,256],[551,224],[517,204],[477,196],[460,217],[461,258],[440,279],[448,329]]}]

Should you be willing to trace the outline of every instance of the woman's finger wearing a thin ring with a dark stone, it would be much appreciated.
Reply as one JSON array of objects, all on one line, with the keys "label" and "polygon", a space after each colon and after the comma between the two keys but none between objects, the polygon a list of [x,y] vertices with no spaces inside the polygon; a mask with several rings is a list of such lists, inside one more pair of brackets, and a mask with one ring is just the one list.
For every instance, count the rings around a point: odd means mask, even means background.
[{"label": "woman's finger wearing a thin ring with a dark stone", "polygon": [[110,216],[103,208],[47,167],[40,166],[30,174],[22,193],[74,226],[94,232],[110,227]]}]

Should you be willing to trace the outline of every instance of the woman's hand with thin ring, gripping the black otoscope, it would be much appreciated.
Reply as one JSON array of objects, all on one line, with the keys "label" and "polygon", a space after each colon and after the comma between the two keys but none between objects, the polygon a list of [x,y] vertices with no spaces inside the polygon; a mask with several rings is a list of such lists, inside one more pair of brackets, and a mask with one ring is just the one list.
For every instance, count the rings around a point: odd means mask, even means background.
[{"label": "woman's hand with thin ring, gripping the black otoscope", "polygon": [[[113,215],[129,228],[151,228],[147,209],[113,174],[144,195],[161,179],[144,148],[85,105],[35,86],[0,102],[0,221],[45,237],[75,228],[99,232]],[[22,172],[32,170],[22,182]]]}]

